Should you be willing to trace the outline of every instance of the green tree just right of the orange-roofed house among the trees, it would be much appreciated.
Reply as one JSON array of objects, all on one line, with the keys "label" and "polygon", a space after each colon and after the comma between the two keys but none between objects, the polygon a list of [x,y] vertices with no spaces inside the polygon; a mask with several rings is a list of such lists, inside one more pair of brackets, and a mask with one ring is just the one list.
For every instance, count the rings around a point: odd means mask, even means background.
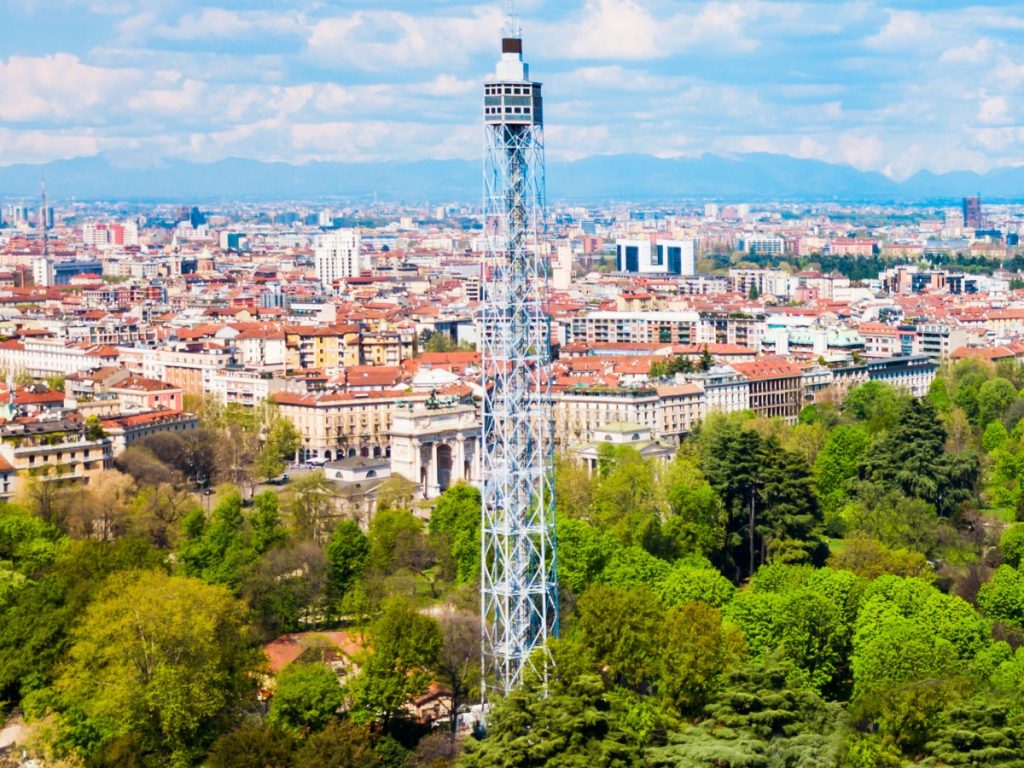
[{"label": "green tree just right of the orange-roofed house among the trees", "polygon": [[443,642],[437,622],[401,598],[388,598],[370,628],[370,648],[350,683],[351,715],[362,723],[388,721],[430,683]]}]

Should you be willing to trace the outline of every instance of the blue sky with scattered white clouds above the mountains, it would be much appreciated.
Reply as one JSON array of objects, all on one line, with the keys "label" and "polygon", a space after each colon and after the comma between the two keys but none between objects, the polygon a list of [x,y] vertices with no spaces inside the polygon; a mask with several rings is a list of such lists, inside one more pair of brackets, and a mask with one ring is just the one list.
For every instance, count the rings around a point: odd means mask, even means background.
[{"label": "blue sky with scattered white clouds above the mountains", "polygon": [[[549,157],[1024,163],[1024,2],[520,0]],[[476,158],[503,0],[0,0],[0,165]]]}]

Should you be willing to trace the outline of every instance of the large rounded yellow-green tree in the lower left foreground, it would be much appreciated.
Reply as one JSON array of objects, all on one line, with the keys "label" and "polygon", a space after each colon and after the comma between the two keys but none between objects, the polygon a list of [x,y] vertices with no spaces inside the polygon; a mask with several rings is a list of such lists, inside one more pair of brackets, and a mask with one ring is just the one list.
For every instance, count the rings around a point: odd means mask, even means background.
[{"label": "large rounded yellow-green tree in the lower left foreground", "polygon": [[144,753],[186,766],[251,701],[258,666],[245,610],[225,590],[127,572],[86,609],[53,705],[83,756],[132,735]]}]

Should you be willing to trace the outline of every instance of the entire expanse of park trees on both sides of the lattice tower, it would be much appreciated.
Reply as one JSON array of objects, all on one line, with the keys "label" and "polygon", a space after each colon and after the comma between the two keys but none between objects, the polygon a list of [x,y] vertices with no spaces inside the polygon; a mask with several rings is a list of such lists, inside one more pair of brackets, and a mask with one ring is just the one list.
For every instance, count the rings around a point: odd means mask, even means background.
[{"label": "entire expanse of park trees on both sides of the lattice tower", "polygon": [[[1022,384],[966,361],[920,400],[713,416],[667,463],[560,458],[553,666],[458,739],[408,707],[478,696],[479,494],[392,478],[342,519],[321,473],[257,486],[272,413],[215,411],[216,456],[151,440],[0,507],[0,701],[68,766],[1020,766]],[[340,678],[268,678],[261,642],[325,629]]]}]

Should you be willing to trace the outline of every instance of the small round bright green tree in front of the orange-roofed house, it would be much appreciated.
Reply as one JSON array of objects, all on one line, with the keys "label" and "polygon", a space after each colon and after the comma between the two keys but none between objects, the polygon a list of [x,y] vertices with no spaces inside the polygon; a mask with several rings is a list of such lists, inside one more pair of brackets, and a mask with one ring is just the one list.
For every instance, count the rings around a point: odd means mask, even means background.
[{"label": "small round bright green tree in front of the orange-roofed house", "polygon": [[338,676],[323,664],[293,664],[278,675],[267,722],[296,734],[318,731],[345,700]]}]

